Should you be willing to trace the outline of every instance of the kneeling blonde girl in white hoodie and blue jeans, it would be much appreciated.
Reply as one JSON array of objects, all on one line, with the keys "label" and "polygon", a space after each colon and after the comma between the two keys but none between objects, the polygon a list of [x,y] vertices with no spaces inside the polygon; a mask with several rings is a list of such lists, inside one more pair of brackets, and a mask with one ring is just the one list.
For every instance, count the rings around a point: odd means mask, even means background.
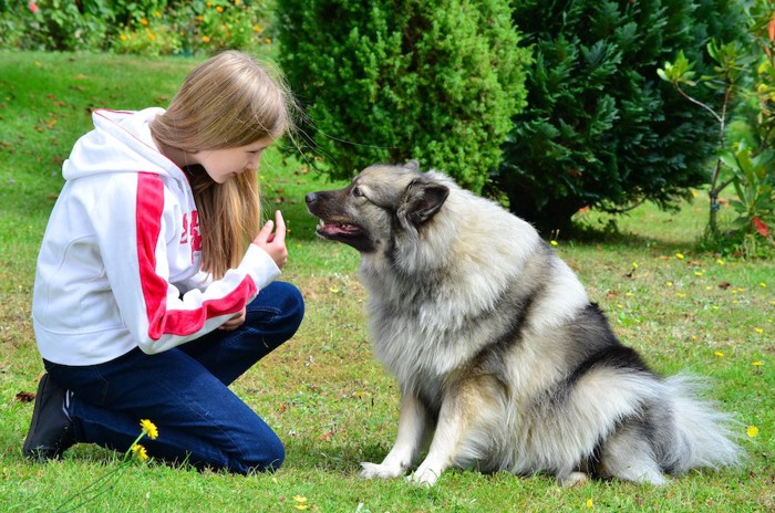
[{"label": "kneeling blonde girl in white hoodie and blue jeans", "polygon": [[[277,469],[275,432],[228,388],[290,338],[299,291],[280,212],[259,226],[261,153],[290,128],[290,95],[249,56],[196,67],[169,108],[96,111],[64,163],[32,300],[48,374],[23,451],[125,451],[197,468]],[[260,228],[260,229],[259,229]],[[251,241],[251,242],[250,242]]]}]

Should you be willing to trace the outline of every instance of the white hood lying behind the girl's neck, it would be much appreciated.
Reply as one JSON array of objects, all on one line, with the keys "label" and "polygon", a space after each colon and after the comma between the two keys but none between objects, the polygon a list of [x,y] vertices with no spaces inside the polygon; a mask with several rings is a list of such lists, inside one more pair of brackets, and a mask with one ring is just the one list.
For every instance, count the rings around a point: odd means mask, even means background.
[{"label": "white hood lying behind the girl's neck", "polygon": [[138,112],[94,111],[94,129],[81,137],[62,166],[65,180],[104,172],[155,172],[178,180],[185,174],[165,157],[151,137],[149,123],[159,107]]}]

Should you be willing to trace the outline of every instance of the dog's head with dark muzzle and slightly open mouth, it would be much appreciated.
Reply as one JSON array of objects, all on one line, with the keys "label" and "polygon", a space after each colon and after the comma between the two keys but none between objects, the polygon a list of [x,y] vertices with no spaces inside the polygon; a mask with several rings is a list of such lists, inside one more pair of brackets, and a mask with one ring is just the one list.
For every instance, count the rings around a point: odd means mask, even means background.
[{"label": "dog's head with dark muzzle and slightly open mouth", "polygon": [[320,237],[373,253],[385,250],[399,232],[418,232],[448,193],[444,184],[410,160],[404,166],[370,166],[348,187],[310,192],[304,199],[310,213],[320,218]]}]

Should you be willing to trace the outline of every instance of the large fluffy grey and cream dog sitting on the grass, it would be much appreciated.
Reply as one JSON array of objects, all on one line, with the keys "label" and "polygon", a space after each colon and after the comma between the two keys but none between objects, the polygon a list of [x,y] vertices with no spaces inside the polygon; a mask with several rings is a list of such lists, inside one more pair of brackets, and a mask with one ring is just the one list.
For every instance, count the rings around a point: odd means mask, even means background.
[{"label": "large fluffy grey and cream dog sitting on the grass", "polygon": [[661,484],[737,463],[730,416],[698,380],[661,377],[611,332],[536,230],[435,171],[371,166],[307,195],[318,233],[361,252],[378,358],[401,388],[399,432],[365,478],[434,484],[450,467]]}]

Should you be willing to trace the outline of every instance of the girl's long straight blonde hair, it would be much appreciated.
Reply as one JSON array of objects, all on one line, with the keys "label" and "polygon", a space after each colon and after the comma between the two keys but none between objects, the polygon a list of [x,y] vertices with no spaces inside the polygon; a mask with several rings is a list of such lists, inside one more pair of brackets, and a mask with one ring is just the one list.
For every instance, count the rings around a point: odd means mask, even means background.
[{"label": "girl's long straight blonde hair", "polygon": [[[236,148],[286,134],[292,105],[276,69],[226,51],[188,74],[167,111],[151,123],[151,133],[188,153]],[[188,170],[199,211],[202,266],[218,279],[239,264],[260,229],[258,174],[241,172],[219,185],[202,169]]]}]

